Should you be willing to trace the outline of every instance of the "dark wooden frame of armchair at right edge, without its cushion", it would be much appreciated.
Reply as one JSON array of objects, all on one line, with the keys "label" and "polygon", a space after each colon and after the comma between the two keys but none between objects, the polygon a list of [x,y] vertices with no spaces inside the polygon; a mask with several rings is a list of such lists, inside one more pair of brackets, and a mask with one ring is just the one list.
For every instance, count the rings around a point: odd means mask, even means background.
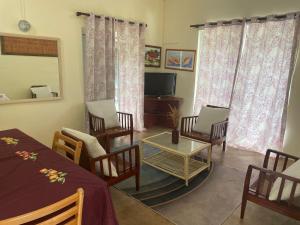
[{"label": "dark wooden frame of armchair at right edge, without its cushion", "polygon": [[[276,158],[272,169],[268,169],[271,153],[275,154]],[[249,165],[244,183],[244,192],[240,216],[241,219],[244,218],[247,201],[251,201],[258,205],[281,213],[283,215],[289,216],[296,220],[300,220],[300,207],[294,204],[294,194],[296,186],[300,185],[300,179],[287,176],[282,174],[281,172],[278,172],[278,165],[280,159],[283,160],[283,166],[281,171],[287,168],[288,162],[299,160],[298,157],[269,149],[267,150],[267,154],[264,159],[263,168]],[[252,174],[254,174],[254,172],[258,173],[258,178],[257,180],[255,180],[255,182],[251,184],[251,177]],[[277,178],[281,178],[281,184],[277,195],[277,200],[270,201],[269,195],[272,189],[272,185]],[[281,200],[281,195],[286,182],[292,182],[293,186],[290,192],[289,199],[284,201]]]}]

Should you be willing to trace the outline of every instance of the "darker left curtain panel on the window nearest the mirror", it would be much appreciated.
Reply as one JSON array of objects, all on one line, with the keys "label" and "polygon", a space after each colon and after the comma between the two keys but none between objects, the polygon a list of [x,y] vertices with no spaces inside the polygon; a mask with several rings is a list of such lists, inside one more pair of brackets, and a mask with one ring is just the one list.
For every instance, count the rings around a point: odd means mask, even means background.
[{"label": "darker left curtain panel on the window nearest the mirror", "polygon": [[84,54],[85,101],[114,98],[114,52],[114,19],[89,16],[86,21]]}]

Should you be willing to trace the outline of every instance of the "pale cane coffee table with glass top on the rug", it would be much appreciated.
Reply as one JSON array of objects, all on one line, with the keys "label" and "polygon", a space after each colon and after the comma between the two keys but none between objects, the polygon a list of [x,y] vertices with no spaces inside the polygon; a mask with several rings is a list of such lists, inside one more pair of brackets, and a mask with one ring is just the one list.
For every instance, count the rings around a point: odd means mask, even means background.
[{"label": "pale cane coffee table with glass top on the rug", "polygon": [[[143,146],[151,145],[159,149],[145,156]],[[211,144],[180,136],[178,144],[172,144],[172,134],[160,133],[141,141],[143,162],[170,175],[185,180],[186,186],[191,178],[211,165]],[[199,152],[207,150],[207,159],[193,159]],[[145,156],[145,157],[144,157]]]}]

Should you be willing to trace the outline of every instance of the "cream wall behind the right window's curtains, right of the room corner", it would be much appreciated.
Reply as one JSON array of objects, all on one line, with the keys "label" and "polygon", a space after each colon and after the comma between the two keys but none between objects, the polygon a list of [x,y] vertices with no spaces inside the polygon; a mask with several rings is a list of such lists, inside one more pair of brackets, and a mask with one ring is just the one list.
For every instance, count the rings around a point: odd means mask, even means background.
[{"label": "cream wall behind the right window's curtains, right of the room corner", "polygon": [[[299,0],[165,0],[164,48],[197,48],[191,24],[264,16],[300,10]],[[199,59],[201,60],[201,59]],[[195,74],[178,72],[177,96],[184,97],[183,114],[192,112]],[[300,61],[291,90],[285,150],[300,156]]]}]

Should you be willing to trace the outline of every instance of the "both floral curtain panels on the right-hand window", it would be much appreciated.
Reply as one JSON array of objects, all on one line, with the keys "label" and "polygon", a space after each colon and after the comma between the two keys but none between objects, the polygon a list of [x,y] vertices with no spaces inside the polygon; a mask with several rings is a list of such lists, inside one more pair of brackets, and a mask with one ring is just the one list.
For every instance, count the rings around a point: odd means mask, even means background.
[{"label": "both floral curtain panels on the right-hand window", "polygon": [[230,146],[260,153],[282,150],[299,15],[251,18],[241,27],[207,26],[199,31],[194,111],[206,104],[230,105]]}]

